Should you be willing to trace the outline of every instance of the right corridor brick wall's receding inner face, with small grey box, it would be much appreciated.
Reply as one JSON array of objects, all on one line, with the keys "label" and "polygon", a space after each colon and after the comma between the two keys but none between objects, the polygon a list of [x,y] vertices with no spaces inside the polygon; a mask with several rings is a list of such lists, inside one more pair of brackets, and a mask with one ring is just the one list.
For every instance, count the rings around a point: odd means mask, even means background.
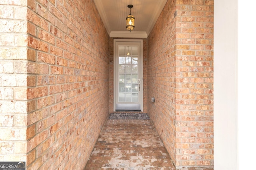
[{"label": "right corridor brick wall's receding inner face, with small grey box", "polygon": [[155,98],[155,103],[148,103],[148,114],[172,160],[175,160],[174,12],[175,4],[169,0],[148,37],[148,101]]}]

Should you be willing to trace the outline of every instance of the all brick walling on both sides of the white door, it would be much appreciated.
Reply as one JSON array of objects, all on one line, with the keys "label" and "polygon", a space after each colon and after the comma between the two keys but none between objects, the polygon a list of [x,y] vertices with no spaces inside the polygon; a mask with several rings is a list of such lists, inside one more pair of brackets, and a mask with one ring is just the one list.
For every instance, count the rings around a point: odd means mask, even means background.
[{"label": "all brick walling on both sides of the white door", "polygon": [[[84,168],[114,111],[114,41],[94,2],[3,0],[0,25],[0,161]],[[175,166],[212,168],[213,0],[168,0],[143,54],[144,112]]]}]

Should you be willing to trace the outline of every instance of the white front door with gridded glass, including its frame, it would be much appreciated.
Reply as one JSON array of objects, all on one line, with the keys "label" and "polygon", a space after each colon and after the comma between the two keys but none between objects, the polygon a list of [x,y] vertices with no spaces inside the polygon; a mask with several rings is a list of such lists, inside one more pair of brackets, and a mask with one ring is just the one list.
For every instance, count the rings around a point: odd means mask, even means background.
[{"label": "white front door with gridded glass, including its frame", "polygon": [[114,39],[114,108],[143,111],[141,39]]}]

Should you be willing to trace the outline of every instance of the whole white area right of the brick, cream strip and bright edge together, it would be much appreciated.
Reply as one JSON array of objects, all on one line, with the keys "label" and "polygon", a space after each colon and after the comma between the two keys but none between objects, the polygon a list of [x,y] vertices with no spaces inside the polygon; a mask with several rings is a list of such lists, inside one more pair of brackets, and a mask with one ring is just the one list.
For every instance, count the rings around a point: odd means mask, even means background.
[{"label": "whole white area right of the brick, cream strip and bright edge together", "polygon": [[256,167],[255,4],[214,0],[214,170]]}]

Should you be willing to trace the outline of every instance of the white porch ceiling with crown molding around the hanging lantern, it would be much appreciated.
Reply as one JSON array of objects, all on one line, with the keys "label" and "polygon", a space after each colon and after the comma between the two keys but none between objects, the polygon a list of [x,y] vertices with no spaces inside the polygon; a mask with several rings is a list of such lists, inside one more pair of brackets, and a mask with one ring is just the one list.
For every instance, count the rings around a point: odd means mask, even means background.
[{"label": "white porch ceiling with crown molding around the hanging lantern", "polygon": [[[110,37],[146,38],[152,30],[167,0],[94,0]],[[126,29],[126,17],[135,17],[132,32]]]}]

